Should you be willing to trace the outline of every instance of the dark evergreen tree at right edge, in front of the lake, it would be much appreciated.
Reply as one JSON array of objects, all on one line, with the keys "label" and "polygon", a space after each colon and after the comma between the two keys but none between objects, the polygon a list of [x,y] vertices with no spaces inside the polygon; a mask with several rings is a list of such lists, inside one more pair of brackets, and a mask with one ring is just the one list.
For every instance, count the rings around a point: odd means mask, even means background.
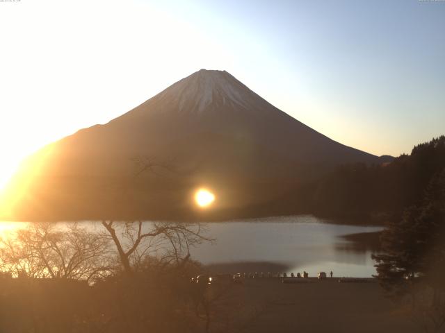
[{"label": "dark evergreen tree at right edge, in front of the lake", "polygon": [[421,203],[382,232],[382,254],[373,255],[380,284],[404,302],[428,332],[445,325],[445,169],[432,177]]}]

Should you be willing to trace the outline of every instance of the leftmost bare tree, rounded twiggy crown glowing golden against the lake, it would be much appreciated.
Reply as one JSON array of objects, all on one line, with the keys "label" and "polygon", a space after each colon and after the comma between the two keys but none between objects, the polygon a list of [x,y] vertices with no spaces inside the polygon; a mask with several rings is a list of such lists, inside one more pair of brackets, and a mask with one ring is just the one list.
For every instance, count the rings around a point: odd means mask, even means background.
[{"label": "leftmost bare tree, rounded twiggy crown glowing golden against the lake", "polygon": [[109,241],[78,223],[29,223],[0,239],[0,268],[14,276],[86,280],[113,270]]}]

